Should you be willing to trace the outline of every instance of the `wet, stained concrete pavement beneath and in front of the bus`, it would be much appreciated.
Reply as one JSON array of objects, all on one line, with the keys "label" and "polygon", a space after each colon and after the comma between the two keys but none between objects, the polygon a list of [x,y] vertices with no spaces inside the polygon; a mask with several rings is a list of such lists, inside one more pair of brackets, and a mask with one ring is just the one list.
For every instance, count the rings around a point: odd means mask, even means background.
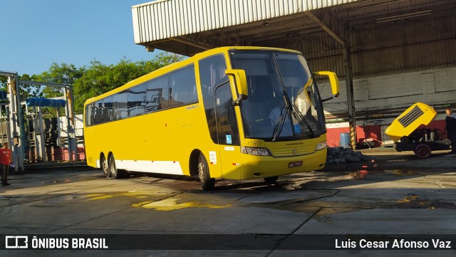
[{"label": "wet, stained concrete pavement beneath and in front of the bus", "polygon": [[[0,188],[0,234],[269,235],[275,248],[247,251],[1,250],[2,255],[80,256],[452,256],[449,251],[286,251],[300,235],[456,234],[456,158],[364,151],[371,160],[291,174],[279,184],[220,181],[202,192],[195,178],[43,169],[11,174]],[[373,162],[372,162],[373,160]],[[147,244],[147,242],[144,242]],[[220,242],[221,248],[225,247]],[[239,242],[237,242],[239,243]],[[242,244],[242,243],[241,243]],[[237,246],[233,246],[236,248]],[[246,246],[244,246],[246,247]],[[454,247],[454,244],[453,244]],[[248,248],[248,246],[247,246]]]}]

